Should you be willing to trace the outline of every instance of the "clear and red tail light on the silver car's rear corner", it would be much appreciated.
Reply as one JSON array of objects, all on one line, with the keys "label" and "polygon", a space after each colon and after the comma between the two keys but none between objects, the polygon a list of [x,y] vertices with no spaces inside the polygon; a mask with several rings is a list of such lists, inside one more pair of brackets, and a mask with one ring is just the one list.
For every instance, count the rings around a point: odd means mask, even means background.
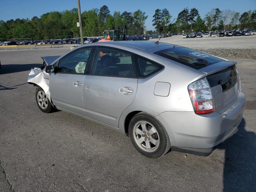
[{"label": "clear and red tail light on the silver car's rear corner", "polygon": [[214,112],[212,92],[206,78],[191,83],[188,86],[188,92],[197,114]]}]

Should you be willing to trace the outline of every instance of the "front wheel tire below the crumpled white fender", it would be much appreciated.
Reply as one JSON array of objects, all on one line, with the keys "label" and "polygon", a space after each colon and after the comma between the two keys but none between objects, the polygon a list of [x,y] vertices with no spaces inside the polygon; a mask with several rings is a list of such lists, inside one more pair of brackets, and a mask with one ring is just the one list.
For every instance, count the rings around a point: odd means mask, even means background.
[{"label": "front wheel tire below the crumpled white fender", "polygon": [[[40,93],[42,93],[42,94],[40,94]],[[44,99],[43,99],[43,101],[40,101],[40,98],[42,100],[42,97]],[[43,105],[42,105],[42,102],[44,102]],[[44,113],[50,113],[50,112],[56,111],[56,109],[52,106],[51,102],[48,100],[44,90],[39,86],[36,89],[36,104],[39,107],[39,109]]]}]

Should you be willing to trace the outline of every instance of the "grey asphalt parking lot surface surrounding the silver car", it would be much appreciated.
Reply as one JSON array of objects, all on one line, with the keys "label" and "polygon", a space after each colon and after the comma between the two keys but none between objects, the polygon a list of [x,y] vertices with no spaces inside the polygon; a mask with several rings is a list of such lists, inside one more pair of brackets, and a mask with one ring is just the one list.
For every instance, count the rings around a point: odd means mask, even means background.
[{"label": "grey asphalt parking lot surface surrounding the silver car", "polygon": [[234,136],[208,157],[169,152],[150,159],[114,130],[62,111],[40,111],[36,89],[26,83],[30,68],[42,65],[41,56],[67,51],[0,51],[0,192],[256,191],[255,60],[230,59],[238,62],[246,93]]}]

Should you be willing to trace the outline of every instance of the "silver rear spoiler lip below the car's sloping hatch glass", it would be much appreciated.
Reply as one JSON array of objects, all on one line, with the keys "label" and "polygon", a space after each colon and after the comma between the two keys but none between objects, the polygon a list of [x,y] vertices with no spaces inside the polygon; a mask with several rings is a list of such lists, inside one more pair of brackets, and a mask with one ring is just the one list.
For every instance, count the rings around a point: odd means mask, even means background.
[{"label": "silver rear spoiler lip below the car's sloping hatch glass", "polygon": [[212,64],[212,65],[206,66],[198,71],[204,72],[204,73],[206,73],[206,75],[211,75],[216,72],[222,71],[226,68],[229,68],[233,65],[236,65],[236,62],[224,60],[224,61]]}]

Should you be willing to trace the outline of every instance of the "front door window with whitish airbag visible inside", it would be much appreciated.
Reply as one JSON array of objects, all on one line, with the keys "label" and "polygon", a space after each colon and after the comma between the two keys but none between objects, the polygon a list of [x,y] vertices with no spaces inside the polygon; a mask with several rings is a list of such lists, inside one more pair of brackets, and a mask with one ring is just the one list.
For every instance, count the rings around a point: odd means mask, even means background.
[{"label": "front door window with whitish airbag visible inside", "polygon": [[62,58],[58,64],[58,72],[84,74],[92,48],[77,50]]}]

